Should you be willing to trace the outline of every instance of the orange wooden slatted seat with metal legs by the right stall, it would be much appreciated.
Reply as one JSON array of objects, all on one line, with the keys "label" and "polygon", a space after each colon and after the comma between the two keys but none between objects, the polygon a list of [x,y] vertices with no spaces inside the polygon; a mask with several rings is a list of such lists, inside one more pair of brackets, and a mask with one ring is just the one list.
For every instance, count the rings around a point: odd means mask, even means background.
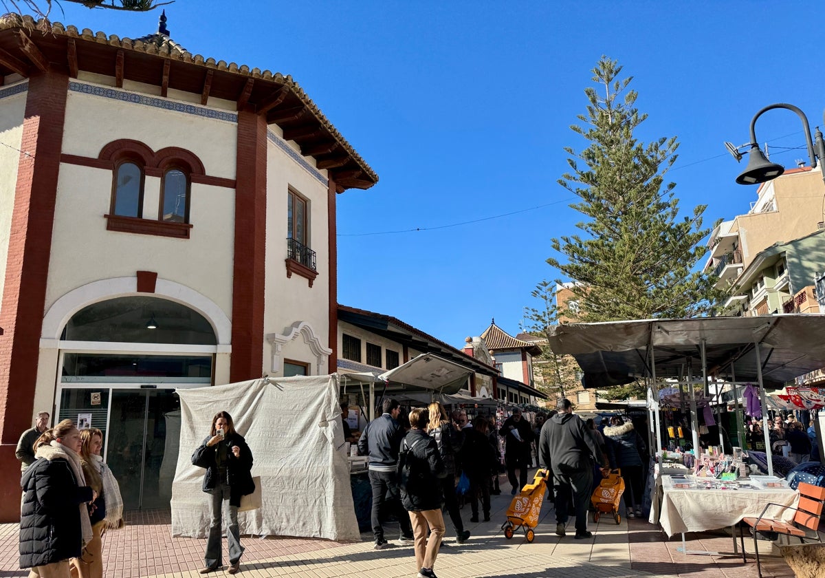
[{"label": "orange wooden slatted seat with metal legs by the right stall", "polygon": [[[799,508],[789,508],[796,512],[794,519],[790,522],[765,517],[768,508],[772,505],[782,507],[780,504],[766,505],[758,518],[742,519],[742,522],[753,528],[753,550],[757,553],[757,573],[759,574],[759,578],[762,578],[762,568],[759,563],[757,533],[774,532],[777,534],[785,534],[786,536],[795,536],[799,538],[799,542],[802,543],[804,543],[804,538],[815,539],[821,543],[822,537],[819,535],[819,517],[823,513],[823,504],[825,504],[825,488],[802,482],[799,484]],[[813,535],[811,535],[812,531]],[[745,561],[745,538],[742,526],[739,527],[739,539],[742,542],[742,561]]]}]

